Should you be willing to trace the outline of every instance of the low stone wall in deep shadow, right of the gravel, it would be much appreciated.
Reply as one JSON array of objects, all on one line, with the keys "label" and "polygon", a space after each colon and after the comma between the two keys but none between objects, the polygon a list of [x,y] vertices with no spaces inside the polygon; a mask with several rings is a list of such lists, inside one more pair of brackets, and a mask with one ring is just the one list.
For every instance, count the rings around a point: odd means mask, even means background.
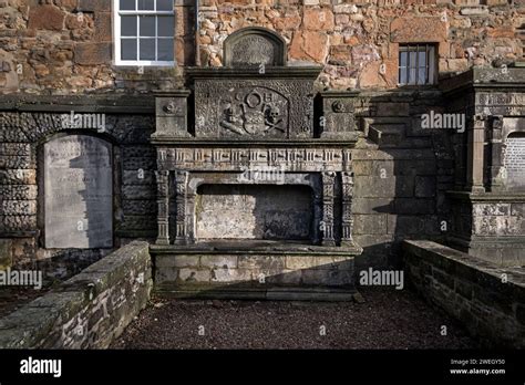
[{"label": "low stone wall in deep shadow, right of the gravel", "polygon": [[491,347],[525,347],[525,270],[431,241],[405,241],[410,283]]}]

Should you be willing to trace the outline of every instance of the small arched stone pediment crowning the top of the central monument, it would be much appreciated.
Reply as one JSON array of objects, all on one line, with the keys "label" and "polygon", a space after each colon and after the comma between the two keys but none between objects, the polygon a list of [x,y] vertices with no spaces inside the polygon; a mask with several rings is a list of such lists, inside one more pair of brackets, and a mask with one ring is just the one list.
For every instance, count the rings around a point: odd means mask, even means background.
[{"label": "small arched stone pediment crowning the top of the central monument", "polygon": [[224,41],[225,66],[284,66],[286,62],[285,40],[266,28],[244,28]]}]

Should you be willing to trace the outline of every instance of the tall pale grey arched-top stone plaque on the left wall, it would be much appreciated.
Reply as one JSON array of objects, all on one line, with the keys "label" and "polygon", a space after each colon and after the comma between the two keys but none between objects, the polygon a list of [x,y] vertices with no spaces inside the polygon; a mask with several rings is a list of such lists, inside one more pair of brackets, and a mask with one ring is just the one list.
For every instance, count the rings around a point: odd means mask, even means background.
[{"label": "tall pale grey arched-top stone plaque on the left wall", "polygon": [[70,135],[44,145],[45,248],[113,247],[112,148]]}]

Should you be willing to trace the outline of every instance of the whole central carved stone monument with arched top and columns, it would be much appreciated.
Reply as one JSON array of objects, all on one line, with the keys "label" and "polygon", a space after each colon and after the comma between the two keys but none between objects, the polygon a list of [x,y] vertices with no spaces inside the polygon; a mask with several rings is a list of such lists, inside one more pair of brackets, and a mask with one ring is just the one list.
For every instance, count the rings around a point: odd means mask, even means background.
[{"label": "whole central carved stone monument with arched top and columns", "polygon": [[321,69],[286,66],[275,32],[240,30],[224,50],[225,67],[187,70],[194,117],[166,116],[167,106],[188,104],[188,92],[157,96],[158,288],[352,292],[361,252],[351,214],[357,133],[321,136],[313,108]]}]

